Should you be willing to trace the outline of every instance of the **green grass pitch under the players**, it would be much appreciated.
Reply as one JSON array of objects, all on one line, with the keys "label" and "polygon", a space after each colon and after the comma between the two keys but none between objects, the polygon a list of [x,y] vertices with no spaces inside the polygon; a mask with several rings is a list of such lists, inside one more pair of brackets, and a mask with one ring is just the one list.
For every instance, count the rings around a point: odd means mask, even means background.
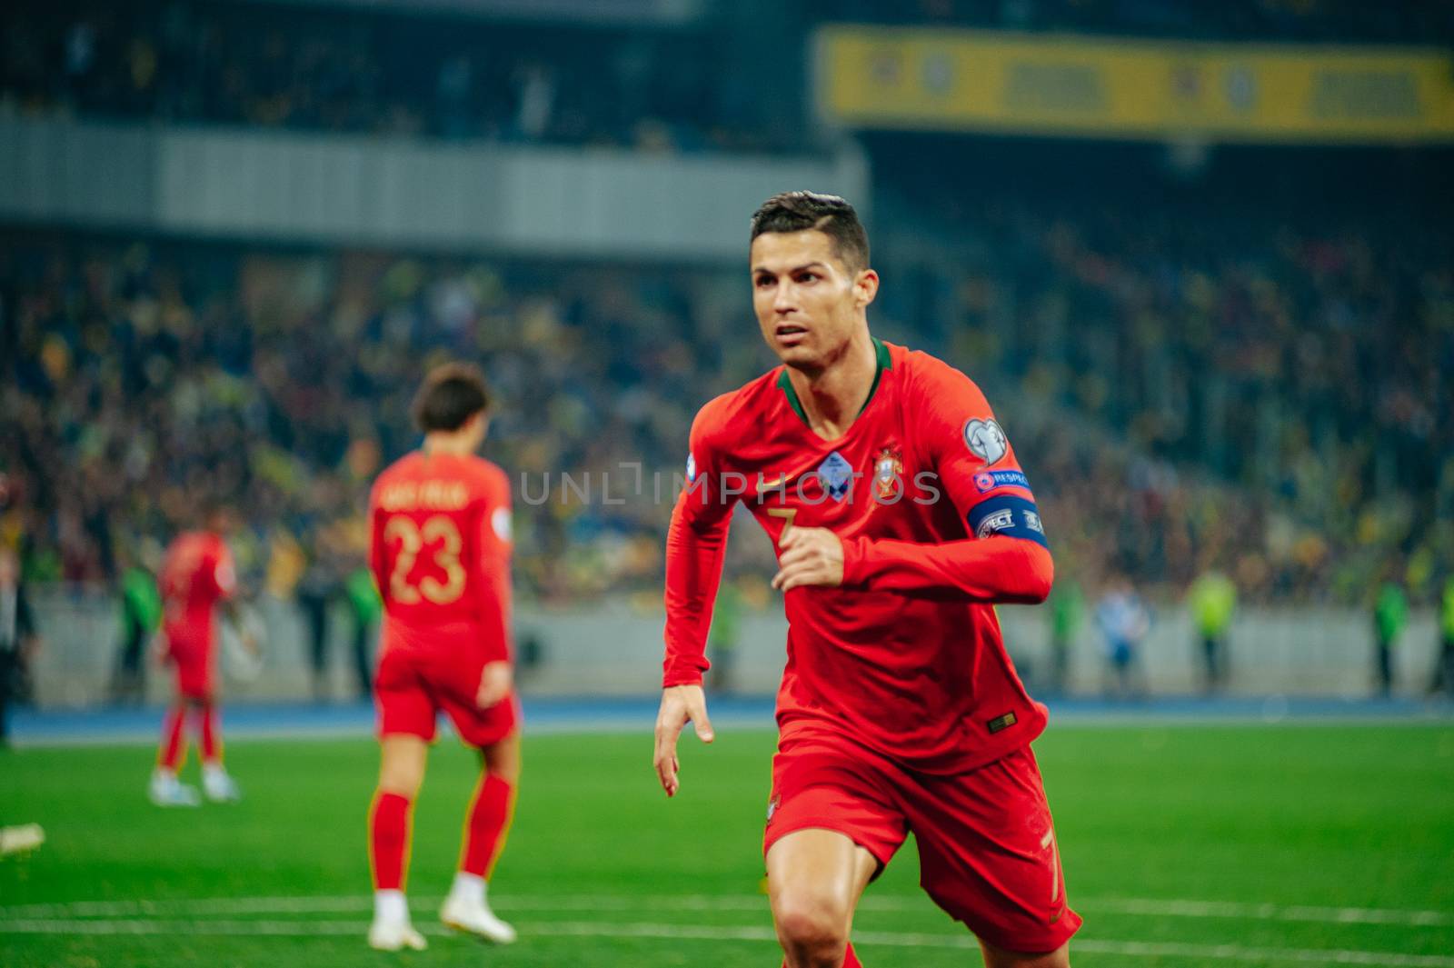
[{"label": "green grass pitch under the players", "polygon": [[[772,743],[686,737],[666,801],[647,733],[528,737],[491,887],[519,943],[436,932],[400,955],[364,940],[369,740],[234,741],[247,798],[195,811],[145,802],[144,747],[0,753],[0,823],[48,834],[0,860],[0,965],[775,967],[759,890]],[[1454,967],[1454,727],[1053,725],[1035,750],[1086,919],[1077,968]],[[441,743],[409,876],[426,930],[473,781]],[[979,964],[916,882],[906,844],[855,921],[865,964]]]}]

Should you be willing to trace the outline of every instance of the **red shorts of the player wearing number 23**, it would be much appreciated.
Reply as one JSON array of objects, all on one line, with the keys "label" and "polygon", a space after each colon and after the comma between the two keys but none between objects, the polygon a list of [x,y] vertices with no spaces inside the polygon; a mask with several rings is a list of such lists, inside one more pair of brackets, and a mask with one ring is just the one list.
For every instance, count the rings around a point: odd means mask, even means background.
[{"label": "red shorts of the player wearing number 23", "polygon": [[499,743],[518,728],[521,703],[512,692],[489,709],[474,705],[483,669],[484,657],[475,648],[461,648],[448,640],[400,645],[391,644],[385,634],[374,679],[378,734],[403,733],[433,741],[442,709],[467,744]]}]

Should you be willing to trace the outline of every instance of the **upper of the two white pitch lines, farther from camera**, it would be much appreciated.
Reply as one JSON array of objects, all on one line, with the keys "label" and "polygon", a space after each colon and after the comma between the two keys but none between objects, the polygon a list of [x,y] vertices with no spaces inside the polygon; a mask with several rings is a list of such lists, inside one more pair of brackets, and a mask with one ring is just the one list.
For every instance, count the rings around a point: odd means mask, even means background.
[{"label": "upper of the two white pitch lines, farther from camera", "polygon": [[[410,898],[416,908],[433,910],[443,898]],[[135,916],[240,916],[240,914],[350,914],[371,910],[368,894],[339,897],[217,897],[138,901],[68,901],[57,904],[0,906],[0,919],[45,917],[135,917]],[[502,911],[766,911],[768,898],[755,894],[502,894],[493,900]],[[1407,927],[1454,926],[1451,911],[1421,911],[1383,907],[1313,907],[1252,904],[1240,901],[1192,901],[1152,898],[1072,898],[1072,906],[1090,913],[1147,917],[1207,917],[1232,920],[1316,921],[1325,924],[1402,924]],[[922,897],[865,895],[861,911],[928,911]]]}]

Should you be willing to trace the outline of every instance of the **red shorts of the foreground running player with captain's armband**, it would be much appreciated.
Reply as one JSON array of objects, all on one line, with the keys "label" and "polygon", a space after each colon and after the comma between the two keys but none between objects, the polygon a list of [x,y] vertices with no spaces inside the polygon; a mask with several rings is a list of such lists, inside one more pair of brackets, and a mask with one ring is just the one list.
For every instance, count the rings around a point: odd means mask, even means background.
[{"label": "red shorts of the foreground running player with captain's armband", "polygon": [[1080,927],[1066,904],[1050,805],[1028,746],[936,776],[856,744],[794,740],[772,760],[763,853],[810,827],[846,834],[880,865],[913,831],[923,890],[999,948],[1054,951]]}]

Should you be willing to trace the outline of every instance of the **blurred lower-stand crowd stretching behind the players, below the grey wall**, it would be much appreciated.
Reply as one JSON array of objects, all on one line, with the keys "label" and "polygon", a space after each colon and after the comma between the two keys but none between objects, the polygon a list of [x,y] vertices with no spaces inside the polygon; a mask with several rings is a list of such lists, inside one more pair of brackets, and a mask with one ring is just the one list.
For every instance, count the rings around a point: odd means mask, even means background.
[{"label": "blurred lower-stand crowd stretching behind the players, below the grey wall", "polygon": [[[874,324],[987,390],[1063,578],[1179,597],[1217,568],[1249,602],[1362,603],[1386,578],[1434,594],[1448,251],[1028,209],[980,225],[989,262],[932,286],[885,269]],[[0,541],[41,580],[111,580],[221,496],[257,583],[339,586],[371,477],[413,445],[420,374],[467,356],[500,398],[487,452],[516,484],[522,593],[654,597],[695,408],[774,362],[731,269],[33,233],[0,251]],[[771,573],[766,542],[734,548],[736,571]]]}]

